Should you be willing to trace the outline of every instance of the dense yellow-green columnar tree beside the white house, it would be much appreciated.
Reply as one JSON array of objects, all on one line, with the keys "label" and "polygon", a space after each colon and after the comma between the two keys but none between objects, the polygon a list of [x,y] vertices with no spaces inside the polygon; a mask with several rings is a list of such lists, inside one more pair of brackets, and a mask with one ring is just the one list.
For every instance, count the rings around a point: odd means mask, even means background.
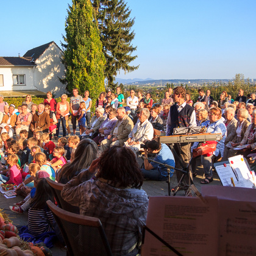
[{"label": "dense yellow-green columnar tree beside the white house", "polygon": [[73,0],[68,8],[65,31],[66,44],[62,45],[68,90],[78,88],[79,93],[88,90],[95,102],[104,91],[105,58],[90,0]]}]

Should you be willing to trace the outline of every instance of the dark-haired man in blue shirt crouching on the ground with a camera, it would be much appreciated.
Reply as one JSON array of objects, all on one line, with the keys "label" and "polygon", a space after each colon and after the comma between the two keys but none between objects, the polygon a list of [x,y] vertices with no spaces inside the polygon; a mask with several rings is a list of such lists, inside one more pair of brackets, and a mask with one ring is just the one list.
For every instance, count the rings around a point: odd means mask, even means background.
[{"label": "dark-haired man in blue shirt crouching on the ground with a camera", "polygon": [[[141,169],[144,178],[159,181],[167,180],[167,167],[164,165],[160,165],[160,163],[175,167],[174,156],[172,155],[171,150],[168,148],[168,146],[166,146],[166,144],[158,143],[155,140],[147,141],[145,146],[146,149],[144,149],[144,169]],[[146,159],[148,158],[148,153],[156,154],[154,161],[159,163],[149,162]],[[173,171],[174,170],[171,169],[170,177],[172,176]]]}]

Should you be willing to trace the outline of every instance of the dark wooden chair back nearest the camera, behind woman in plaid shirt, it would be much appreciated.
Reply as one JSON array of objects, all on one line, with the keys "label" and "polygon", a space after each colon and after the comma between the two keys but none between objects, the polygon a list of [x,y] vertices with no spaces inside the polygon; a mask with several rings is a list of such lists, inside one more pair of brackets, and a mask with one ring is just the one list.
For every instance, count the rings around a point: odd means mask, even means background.
[{"label": "dark wooden chair back nearest the camera, behind woman in plaid shirt", "polygon": [[62,232],[68,256],[112,255],[101,221],[98,218],[67,212],[49,200],[47,204]]}]

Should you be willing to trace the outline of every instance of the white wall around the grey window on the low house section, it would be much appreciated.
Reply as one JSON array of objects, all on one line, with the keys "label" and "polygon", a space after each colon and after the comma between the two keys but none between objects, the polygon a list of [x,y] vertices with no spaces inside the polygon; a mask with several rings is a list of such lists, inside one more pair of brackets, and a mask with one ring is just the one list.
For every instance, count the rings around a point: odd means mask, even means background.
[{"label": "white wall around the grey window on the low house section", "polygon": [[[0,86],[0,91],[21,91],[21,90],[37,90],[34,87],[33,67],[10,67],[0,68],[0,74],[4,75],[4,86]],[[24,74],[26,76],[26,85],[13,85],[12,76],[14,74]]]}]

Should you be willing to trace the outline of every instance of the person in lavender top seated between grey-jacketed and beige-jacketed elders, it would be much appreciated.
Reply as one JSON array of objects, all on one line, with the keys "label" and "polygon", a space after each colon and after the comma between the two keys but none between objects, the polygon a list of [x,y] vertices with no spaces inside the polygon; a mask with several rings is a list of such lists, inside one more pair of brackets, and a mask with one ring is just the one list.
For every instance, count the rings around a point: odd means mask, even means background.
[{"label": "person in lavender top seated between grey-jacketed and beige-jacketed elders", "polygon": [[116,110],[114,108],[110,108],[108,118],[106,118],[105,121],[101,124],[101,127],[99,127],[99,134],[97,137],[93,138],[93,140],[97,144],[101,144],[101,141],[105,140],[108,135],[110,135],[110,132],[116,125],[117,120],[118,119],[116,118]]}]

